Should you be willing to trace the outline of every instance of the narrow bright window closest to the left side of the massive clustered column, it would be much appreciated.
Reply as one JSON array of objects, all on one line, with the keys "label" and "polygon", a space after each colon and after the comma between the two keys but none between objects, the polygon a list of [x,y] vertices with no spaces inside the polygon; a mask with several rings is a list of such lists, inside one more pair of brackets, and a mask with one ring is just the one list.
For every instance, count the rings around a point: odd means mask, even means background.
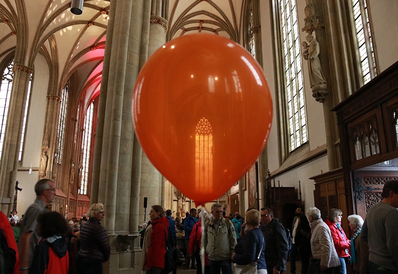
[{"label": "narrow bright window closest to the left side of the massive clustered column", "polygon": [[90,168],[90,148],[93,130],[93,114],[94,114],[94,101],[90,104],[84,119],[84,132],[82,152],[82,181],[79,189],[79,194],[87,195],[87,187],[89,184],[89,168]]}]

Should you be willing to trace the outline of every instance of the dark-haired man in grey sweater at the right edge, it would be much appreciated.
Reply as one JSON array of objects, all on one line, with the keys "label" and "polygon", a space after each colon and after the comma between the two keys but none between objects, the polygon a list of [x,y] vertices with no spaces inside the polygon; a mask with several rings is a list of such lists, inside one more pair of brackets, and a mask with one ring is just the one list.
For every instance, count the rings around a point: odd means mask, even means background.
[{"label": "dark-haired man in grey sweater at the right edge", "polygon": [[366,214],[361,231],[369,245],[371,274],[398,273],[398,180],[386,182],[382,196]]}]

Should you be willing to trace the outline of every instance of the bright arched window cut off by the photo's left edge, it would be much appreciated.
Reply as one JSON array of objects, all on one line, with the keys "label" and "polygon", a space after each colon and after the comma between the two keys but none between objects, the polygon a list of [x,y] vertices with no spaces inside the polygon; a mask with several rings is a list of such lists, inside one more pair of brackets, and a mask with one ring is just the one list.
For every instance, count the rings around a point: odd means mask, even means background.
[{"label": "bright arched window cut off by the photo's left edge", "polygon": [[8,66],[5,67],[1,77],[1,85],[0,85],[0,119],[1,119],[1,127],[0,127],[0,157],[4,142],[5,136],[5,124],[7,123],[7,115],[8,115],[8,105],[9,99],[11,97],[11,87],[12,87],[12,77],[14,74],[12,73],[12,67],[14,65],[14,60],[12,60]]}]

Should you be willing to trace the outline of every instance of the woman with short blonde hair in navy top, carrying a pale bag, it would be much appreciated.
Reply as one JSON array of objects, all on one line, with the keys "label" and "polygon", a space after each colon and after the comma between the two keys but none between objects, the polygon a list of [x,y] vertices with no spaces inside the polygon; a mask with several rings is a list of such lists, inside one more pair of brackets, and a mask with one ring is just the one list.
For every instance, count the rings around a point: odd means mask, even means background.
[{"label": "woman with short blonde hair in navy top, carrying a pale bag", "polygon": [[257,273],[267,274],[267,265],[264,258],[265,241],[259,228],[260,212],[252,209],[246,212],[246,226],[248,231],[235,246],[235,253],[232,255],[232,263],[237,265],[248,265],[257,262]]}]

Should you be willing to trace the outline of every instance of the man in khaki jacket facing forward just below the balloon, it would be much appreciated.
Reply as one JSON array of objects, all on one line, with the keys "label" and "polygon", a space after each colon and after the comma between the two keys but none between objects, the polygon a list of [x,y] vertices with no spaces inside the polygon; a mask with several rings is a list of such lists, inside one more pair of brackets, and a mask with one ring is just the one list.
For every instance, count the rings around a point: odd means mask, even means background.
[{"label": "man in khaki jacket facing forward just below the balloon", "polygon": [[204,225],[203,245],[210,263],[210,273],[232,274],[231,257],[236,245],[235,228],[231,221],[222,217],[220,204],[211,206],[213,217]]}]

